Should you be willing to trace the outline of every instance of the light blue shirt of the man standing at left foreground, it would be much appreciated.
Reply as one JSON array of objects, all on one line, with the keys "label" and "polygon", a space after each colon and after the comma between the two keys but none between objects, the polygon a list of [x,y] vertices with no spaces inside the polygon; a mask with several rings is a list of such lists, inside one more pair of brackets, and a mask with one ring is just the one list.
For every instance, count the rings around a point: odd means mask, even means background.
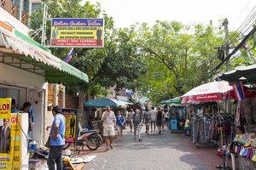
[{"label": "light blue shirt of the man standing at left foreground", "polygon": [[55,115],[55,119],[54,122],[52,122],[51,125],[51,129],[50,129],[50,134],[54,134],[55,133],[55,124],[59,123],[59,131],[58,131],[58,135],[56,139],[50,138],[49,140],[49,144],[51,146],[60,146],[60,145],[64,145],[65,144],[65,123],[66,123],[66,119],[63,115],[61,115],[60,113]]}]

